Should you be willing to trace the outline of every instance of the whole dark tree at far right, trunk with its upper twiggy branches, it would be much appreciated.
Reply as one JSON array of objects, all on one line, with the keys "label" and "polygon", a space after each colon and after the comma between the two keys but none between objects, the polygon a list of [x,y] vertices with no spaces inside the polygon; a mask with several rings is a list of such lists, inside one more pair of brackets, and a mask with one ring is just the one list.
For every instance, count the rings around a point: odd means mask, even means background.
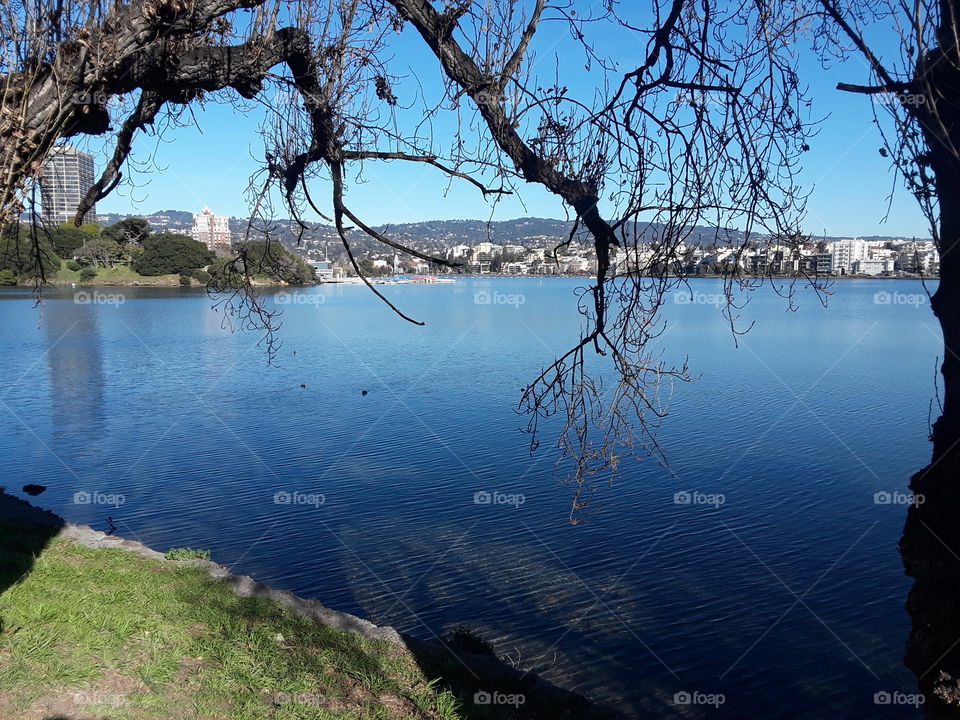
[{"label": "whole dark tree at far right, trunk with its upper twiggy branches", "polygon": [[[910,480],[923,499],[910,507],[900,543],[914,586],[907,601],[913,631],[906,664],[917,675],[933,717],[960,710],[960,7],[945,0],[905,4],[887,0],[810,7],[823,24],[828,53],[855,53],[865,61],[866,82],[841,82],[838,90],[871,98],[881,153],[913,193],[940,253],[940,280],[931,308],[943,332],[940,416],[930,434],[930,464]],[[891,28],[896,53],[880,52],[868,38]]]}]

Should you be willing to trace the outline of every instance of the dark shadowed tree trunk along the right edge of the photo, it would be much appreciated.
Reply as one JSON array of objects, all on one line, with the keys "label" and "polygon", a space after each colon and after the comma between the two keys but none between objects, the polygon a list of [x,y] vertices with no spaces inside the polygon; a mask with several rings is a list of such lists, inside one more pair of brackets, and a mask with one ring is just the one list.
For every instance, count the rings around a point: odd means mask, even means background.
[{"label": "dark shadowed tree trunk along the right edge of the photo", "polygon": [[932,309],[944,340],[943,409],[931,433],[930,464],[910,480],[916,502],[900,541],[904,570],[914,579],[904,662],[917,676],[931,718],[960,717],[960,65],[956,41],[950,42],[917,68],[926,102],[916,116],[940,211],[940,284]]}]

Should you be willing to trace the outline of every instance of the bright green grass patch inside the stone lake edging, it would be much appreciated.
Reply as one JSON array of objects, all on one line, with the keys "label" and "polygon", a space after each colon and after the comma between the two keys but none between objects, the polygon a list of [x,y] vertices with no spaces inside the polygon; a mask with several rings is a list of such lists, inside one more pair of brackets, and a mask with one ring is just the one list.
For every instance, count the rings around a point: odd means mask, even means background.
[{"label": "bright green grass patch inside the stone lake edging", "polygon": [[0,717],[460,717],[402,648],[192,564],[45,540],[0,522]]}]

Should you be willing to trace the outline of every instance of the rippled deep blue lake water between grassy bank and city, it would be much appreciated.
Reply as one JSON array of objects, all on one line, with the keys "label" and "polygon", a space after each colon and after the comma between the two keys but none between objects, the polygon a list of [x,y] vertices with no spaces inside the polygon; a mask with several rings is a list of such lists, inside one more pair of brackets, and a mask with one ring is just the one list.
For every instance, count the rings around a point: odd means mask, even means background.
[{"label": "rippled deep blue lake water between grassy bank and city", "polygon": [[[201,292],[60,290],[37,306],[5,289],[0,484],[46,485],[33,502],[69,520],[210,548],[378,624],[469,625],[635,717],[909,716],[873,702],[914,691],[905,509],[874,494],[905,491],[929,454],[940,340],[919,284],[844,281],[796,312],[759,292],[737,348],[706,297],[719,284],[691,283],[698,301],[667,304],[661,343],[698,376],[659,431],[672,472],[624,461],[572,526],[552,438],[531,455],[514,408],[576,340],[582,285],[388,288],[422,328],[362,287],[310,289],[277,306],[278,367]],[[474,502],[493,491],[524,502]],[[676,504],[682,491],[725,502]],[[724,704],[674,703],[683,691]]]}]

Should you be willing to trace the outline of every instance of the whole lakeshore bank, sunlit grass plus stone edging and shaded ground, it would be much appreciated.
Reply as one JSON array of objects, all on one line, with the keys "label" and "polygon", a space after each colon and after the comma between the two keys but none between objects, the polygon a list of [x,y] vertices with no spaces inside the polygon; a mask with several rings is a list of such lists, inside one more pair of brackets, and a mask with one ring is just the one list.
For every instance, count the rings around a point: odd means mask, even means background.
[{"label": "whole lakeshore bank, sunlit grass plus stone edging and shaded ground", "polygon": [[621,720],[469,630],[401,637],[2,490],[2,720]]}]

